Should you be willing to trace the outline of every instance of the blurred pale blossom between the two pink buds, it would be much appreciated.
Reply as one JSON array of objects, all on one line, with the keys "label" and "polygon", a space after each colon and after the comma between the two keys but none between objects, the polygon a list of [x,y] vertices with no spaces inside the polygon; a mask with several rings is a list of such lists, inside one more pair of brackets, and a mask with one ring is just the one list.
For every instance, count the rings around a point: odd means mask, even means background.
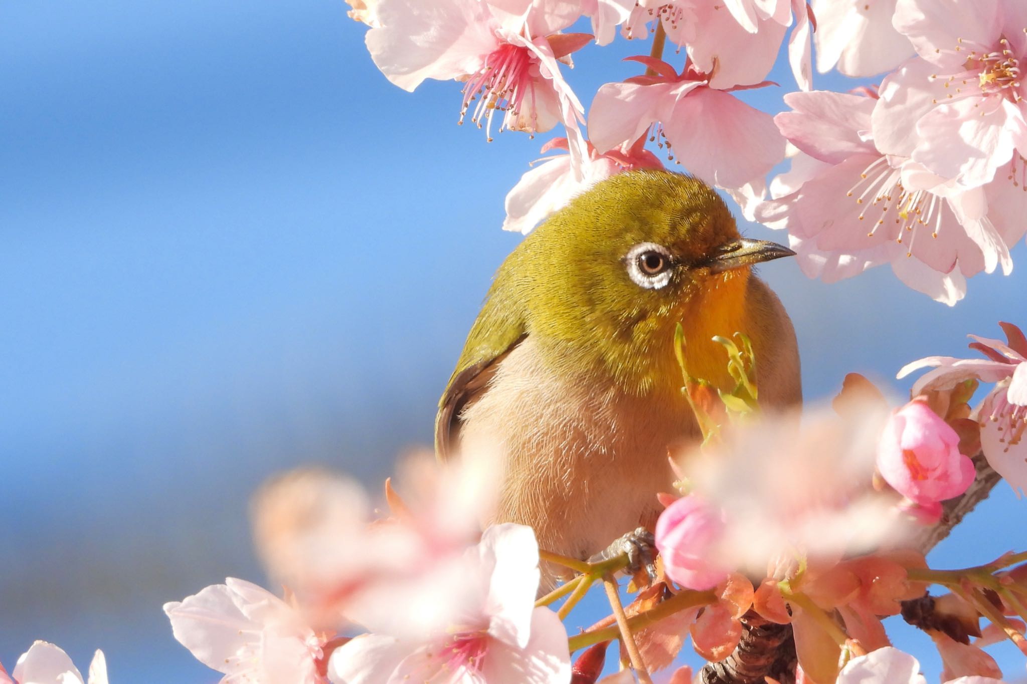
[{"label": "blurred pale blossom between the two pink buds", "polygon": [[847,406],[845,419],[812,410],[804,425],[765,414],[681,454],[691,491],[725,512],[716,557],[763,576],[768,564],[797,554],[837,562],[901,541],[909,527],[872,487],[884,417],[876,402]]}]

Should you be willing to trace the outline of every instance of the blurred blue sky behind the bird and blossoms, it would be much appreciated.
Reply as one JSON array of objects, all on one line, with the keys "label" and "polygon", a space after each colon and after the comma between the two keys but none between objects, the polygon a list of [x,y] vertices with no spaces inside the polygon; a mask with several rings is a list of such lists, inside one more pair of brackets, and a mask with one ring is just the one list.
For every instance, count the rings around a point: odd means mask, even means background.
[{"label": "blurred blue sky behind the bird and blossoms", "polygon": [[[345,9],[0,4],[8,667],[43,638],[83,668],[104,648],[112,682],[217,681],[160,605],[226,575],[263,581],[255,486],[312,461],[374,481],[430,442],[491,274],[521,239],[499,230],[503,197],[544,136],[486,145],[455,125],[457,85],[393,87]],[[586,105],[635,73],[616,63],[626,47],[575,55]],[[794,85],[775,76],[784,88],[745,96],[778,111]],[[1014,256],[1012,277],[975,278],[954,310],[886,270],[831,286],[787,260],[762,275],[795,321],[809,397],[850,370],[898,395],[907,361],[1027,323],[1027,253]],[[1022,519],[1000,486],[938,563],[1024,548],[1009,524]]]}]

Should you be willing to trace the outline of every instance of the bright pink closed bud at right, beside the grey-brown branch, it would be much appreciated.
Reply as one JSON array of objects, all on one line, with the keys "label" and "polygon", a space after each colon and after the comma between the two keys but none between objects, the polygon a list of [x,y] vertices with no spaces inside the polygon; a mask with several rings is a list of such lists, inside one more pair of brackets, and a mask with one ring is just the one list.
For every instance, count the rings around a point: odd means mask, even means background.
[{"label": "bright pink closed bud at right, beside the grey-brown branch", "polygon": [[877,470],[891,487],[928,515],[974,482],[974,462],[959,453],[959,436],[923,400],[897,409],[877,447]]}]

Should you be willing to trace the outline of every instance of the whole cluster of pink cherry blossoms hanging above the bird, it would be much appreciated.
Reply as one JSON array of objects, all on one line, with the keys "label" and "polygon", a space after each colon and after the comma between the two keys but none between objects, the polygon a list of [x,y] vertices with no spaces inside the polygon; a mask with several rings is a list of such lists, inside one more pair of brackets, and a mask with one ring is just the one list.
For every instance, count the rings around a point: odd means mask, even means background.
[{"label": "whole cluster of pink cherry blossoms hanging above the bird", "polygon": [[[835,281],[889,264],[954,304],[1001,268],[1027,222],[1020,0],[351,0],[382,73],[413,90],[463,84],[460,121],[566,131],[506,198],[527,233],[611,174],[665,159],[727,191],[747,218],[786,229],[803,271]],[[573,33],[588,19],[592,34]],[[582,27],[584,28],[584,27]],[[645,72],[606,83],[587,111],[562,69],[593,40],[652,38]],[[735,97],[767,85],[783,43],[799,90],[771,117]],[[670,42],[684,52],[664,61]],[[882,80],[812,90],[821,72]],[[889,72],[889,73],[888,73]],[[495,123],[493,119],[499,117]],[[587,134],[587,139],[585,138]],[[790,171],[767,185],[791,158]],[[769,193],[769,196],[768,196]]]}]

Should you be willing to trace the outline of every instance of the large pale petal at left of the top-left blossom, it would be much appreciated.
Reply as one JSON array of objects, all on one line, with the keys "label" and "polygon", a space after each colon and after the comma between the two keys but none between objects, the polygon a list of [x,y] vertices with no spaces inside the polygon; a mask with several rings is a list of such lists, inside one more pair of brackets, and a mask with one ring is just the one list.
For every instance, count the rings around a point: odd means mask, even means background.
[{"label": "large pale petal at left of the top-left blossom", "polygon": [[471,74],[499,45],[494,19],[477,0],[381,0],[378,17],[381,28],[368,31],[365,42],[378,69],[405,90],[426,78]]}]

